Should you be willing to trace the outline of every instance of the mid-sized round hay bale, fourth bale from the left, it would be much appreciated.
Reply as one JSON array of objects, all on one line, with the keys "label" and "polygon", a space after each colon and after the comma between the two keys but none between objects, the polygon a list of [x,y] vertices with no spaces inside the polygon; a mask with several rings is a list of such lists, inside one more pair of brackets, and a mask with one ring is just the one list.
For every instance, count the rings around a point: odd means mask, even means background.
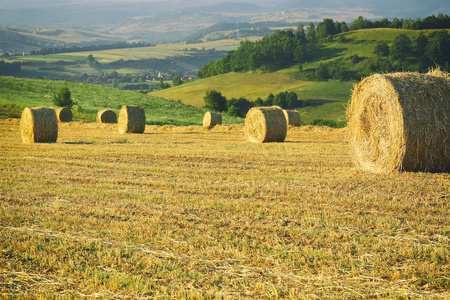
[{"label": "mid-sized round hay bale, fourth bale from the left", "polygon": [[135,105],[124,105],[119,112],[119,133],[144,133],[145,111]]}]

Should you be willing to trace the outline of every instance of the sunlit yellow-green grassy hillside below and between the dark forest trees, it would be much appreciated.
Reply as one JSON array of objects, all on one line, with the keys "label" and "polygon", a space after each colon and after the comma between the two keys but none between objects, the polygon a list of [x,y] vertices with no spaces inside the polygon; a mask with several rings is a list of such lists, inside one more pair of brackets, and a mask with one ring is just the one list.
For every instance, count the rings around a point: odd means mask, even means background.
[{"label": "sunlit yellow-green grassy hillside below and between the dark forest trees", "polygon": [[227,99],[244,97],[251,101],[258,97],[265,99],[270,93],[294,91],[306,103],[306,107],[298,108],[303,124],[311,124],[315,119],[345,122],[346,105],[355,81],[305,81],[301,79],[302,74],[314,72],[321,64],[338,60],[350,62],[357,57],[350,70],[361,76],[370,75],[364,70],[376,57],[374,49],[377,43],[384,41],[392,45],[399,34],[415,40],[420,32],[429,35],[433,30],[364,29],[346,32],[340,34],[345,37],[345,42],[335,36],[332,42],[321,44],[311,61],[302,65],[302,73],[297,65],[275,73],[228,73],[156,91],[152,95],[201,107],[208,89],[220,91]]}]

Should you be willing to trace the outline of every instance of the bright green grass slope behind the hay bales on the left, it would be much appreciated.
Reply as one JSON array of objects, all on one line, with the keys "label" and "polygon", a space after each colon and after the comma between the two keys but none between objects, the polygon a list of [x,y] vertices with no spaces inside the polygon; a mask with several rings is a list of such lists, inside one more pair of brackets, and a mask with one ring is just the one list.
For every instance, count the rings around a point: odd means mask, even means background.
[{"label": "bright green grass slope behind the hay bales on the left", "polygon": [[[123,105],[139,105],[146,112],[147,124],[201,125],[204,109],[167,101],[133,91],[67,81],[47,81],[0,77],[0,116],[20,117],[24,107],[53,107],[52,95],[67,86],[78,103],[74,120],[95,122],[97,111],[111,109],[118,114]],[[224,115],[224,124],[242,123],[242,118]]]}]

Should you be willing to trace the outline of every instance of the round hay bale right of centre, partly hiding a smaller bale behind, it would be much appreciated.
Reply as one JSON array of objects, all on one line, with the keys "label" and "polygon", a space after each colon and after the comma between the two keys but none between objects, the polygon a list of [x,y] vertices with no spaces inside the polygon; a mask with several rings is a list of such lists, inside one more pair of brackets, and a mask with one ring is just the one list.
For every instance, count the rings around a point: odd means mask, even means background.
[{"label": "round hay bale right of centre, partly hiding a smaller bale behind", "polygon": [[283,142],[287,134],[287,122],[278,106],[254,107],[245,117],[245,136],[253,143]]}]

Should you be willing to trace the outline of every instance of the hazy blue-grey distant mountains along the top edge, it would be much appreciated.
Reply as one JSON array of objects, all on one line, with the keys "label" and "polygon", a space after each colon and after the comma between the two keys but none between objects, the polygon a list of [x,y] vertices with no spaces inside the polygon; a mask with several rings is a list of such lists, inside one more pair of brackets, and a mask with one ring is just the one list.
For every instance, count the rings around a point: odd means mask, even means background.
[{"label": "hazy blue-grey distant mountains along the top edge", "polygon": [[448,0],[0,0],[0,26],[83,29],[125,41],[180,41],[217,23],[424,18]]}]

